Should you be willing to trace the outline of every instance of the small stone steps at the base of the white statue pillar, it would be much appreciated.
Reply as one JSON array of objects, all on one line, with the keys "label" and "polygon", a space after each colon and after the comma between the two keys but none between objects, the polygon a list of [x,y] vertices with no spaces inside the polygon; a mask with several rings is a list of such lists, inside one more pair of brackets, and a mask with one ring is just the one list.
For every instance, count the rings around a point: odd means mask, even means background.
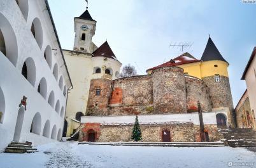
[{"label": "small stone steps at the base of the white statue pillar", "polygon": [[6,148],[6,153],[34,153],[38,152],[36,148],[32,148],[31,143],[11,142]]}]

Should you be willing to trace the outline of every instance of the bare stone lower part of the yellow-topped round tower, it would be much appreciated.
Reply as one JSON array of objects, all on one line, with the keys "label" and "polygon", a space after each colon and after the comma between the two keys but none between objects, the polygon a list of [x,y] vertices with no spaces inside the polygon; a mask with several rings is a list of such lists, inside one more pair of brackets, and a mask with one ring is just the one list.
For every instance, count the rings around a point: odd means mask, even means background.
[{"label": "bare stone lower part of the yellow-topped round tower", "polygon": [[220,82],[215,82],[215,76],[210,76],[204,77],[203,81],[210,89],[210,98],[213,108],[229,108],[229,115],[231,116],[231,122],[229,124],[234,127],[236,122],[229,78],[220,76]]}]

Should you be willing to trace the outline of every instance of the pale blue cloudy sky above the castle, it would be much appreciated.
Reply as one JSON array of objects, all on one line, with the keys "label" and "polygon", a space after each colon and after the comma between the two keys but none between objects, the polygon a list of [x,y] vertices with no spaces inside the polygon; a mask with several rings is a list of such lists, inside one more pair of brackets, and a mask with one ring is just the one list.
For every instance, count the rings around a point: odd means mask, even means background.
[{"label": "pale blue cloudy sky above the castle", "polygon": [[[73,49],[74,17],[86,10],[85,0],[48,0],[63,49]],[[106,39],[118,60],[131,63],[138,74],[181,55],[174,42],[190,42],[185,49],[200,59],[208,34],[229,61],[234,107],[245,92],[241,75],[256,46],[256,4],[241,0],[89,0],[97,21],[92,41]]]}]

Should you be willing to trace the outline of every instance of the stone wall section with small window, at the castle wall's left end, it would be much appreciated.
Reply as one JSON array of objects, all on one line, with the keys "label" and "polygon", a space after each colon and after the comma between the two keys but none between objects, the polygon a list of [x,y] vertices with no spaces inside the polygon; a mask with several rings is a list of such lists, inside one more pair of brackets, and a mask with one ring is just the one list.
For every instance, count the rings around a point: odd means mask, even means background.
[{"label": "stone wall section with small window, at the castle wall's left end", "polygon": [[[101,94],[96,95],[96,89]],[[86,115],[108,115],[108,103],[112,93],[111,81],[108,79],[92,79],[87,103]]]}]

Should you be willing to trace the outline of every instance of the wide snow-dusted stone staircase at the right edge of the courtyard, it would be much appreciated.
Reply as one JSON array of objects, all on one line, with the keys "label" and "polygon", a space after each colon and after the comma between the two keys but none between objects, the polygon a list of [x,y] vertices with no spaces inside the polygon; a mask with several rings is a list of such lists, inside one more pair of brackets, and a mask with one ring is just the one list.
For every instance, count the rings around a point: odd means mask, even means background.
[{"label": "wide snow-dusted stone staircase at the right edge of the courtyard", "polygon": [[231,147],[256,147],[256,131],[252,129],[218,129],[223,136],[224,139],[222,141],[225,145],[229,145]]}]

